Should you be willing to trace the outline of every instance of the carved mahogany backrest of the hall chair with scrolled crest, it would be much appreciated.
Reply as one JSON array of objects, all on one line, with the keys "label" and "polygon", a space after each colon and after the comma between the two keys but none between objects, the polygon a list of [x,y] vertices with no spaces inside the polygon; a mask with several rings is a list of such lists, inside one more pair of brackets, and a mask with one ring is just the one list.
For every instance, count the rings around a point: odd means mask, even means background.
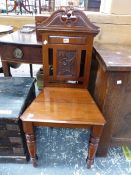
[{"label": "carved mahogany backrest of the hall chair with scrolled crest", "polygon": [[87,88],[98,27],[79,10],[58,10],[37,30],[43,43],[44,86]]}]

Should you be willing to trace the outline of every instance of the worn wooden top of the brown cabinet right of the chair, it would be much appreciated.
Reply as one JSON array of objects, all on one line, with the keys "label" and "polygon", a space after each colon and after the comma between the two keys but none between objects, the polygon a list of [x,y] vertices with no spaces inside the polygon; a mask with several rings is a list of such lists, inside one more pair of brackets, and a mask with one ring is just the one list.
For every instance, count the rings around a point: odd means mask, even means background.
[{"label": "worn wooden top of the brown cabinet right of the chair", "polygon": [[131,71],[131,45],[94,43],[105,71]]}]

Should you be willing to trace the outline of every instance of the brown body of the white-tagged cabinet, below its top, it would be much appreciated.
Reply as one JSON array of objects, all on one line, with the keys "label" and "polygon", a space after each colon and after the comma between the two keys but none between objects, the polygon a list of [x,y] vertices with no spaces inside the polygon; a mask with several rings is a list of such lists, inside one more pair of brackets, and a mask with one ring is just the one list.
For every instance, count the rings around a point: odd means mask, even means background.
[{"label": "brown body of the white-tagged cabinet, below its top", "polygon": [[107,121],[97,154],[105,156],[109,146],[131,146],[131,72],[104,70],[98,55],[93,62],[98,69],[90,91]]}]

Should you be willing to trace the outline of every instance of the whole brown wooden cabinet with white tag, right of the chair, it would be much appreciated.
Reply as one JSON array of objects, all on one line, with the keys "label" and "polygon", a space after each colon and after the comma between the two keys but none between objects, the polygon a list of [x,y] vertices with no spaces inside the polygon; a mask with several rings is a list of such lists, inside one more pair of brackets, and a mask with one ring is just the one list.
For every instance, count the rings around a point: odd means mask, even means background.
[{"label": "whole brown wooden cabinet with white tag, right of the chair", "polygon": [[106,118],[97,154],[131,146],[131,46],[94,45],[90,92]]}]

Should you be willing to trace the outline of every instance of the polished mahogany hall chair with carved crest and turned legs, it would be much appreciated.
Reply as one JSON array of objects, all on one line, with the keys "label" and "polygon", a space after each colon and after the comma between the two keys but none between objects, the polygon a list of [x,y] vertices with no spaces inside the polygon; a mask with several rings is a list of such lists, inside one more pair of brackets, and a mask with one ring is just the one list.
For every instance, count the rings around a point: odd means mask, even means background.
[{"label": "polished mahogany hall chair with carved crest and turned legs", "polygon": [[79,10],[58,10],[37,30],[43,44],[44,89],[21,116],[32,163],[36,165],[34,126],[90,128],[90,168],[105,124],[87,90],[93,38],[99,29]]}]

